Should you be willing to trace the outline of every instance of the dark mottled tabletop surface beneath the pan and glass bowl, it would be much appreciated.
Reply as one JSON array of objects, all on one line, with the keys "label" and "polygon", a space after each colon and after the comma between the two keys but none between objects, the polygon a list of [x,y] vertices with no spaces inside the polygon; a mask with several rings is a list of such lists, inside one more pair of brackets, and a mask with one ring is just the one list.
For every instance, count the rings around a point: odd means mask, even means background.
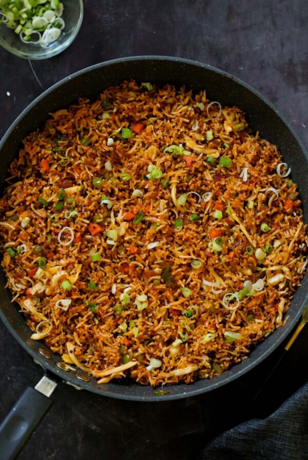
[{"label": "dark mottled tabletop surface beneath the pan and glass bowl", "polygon": [[[84,9],[78,36],[58,56],[30,62],[0,49],[0,137],[35,97],[77,70],[124,56],[169,55],[210,64],[255,87],[308,147],[306,0],[85,0]],[[199,459],[209,439],[265,417],[307,380],[306,327],[280,362],[262,404],[252,403],[284,344],[239,380],[178,401],[109,399],[62,383],[18,458]],[[0,363],[1,420],[43,371],[2,323]]]}]

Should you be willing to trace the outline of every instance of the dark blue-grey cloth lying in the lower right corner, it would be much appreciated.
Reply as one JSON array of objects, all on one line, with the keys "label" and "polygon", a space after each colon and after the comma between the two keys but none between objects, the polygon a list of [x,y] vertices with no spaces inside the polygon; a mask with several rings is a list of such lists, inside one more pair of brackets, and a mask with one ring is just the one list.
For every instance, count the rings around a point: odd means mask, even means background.
[{"label": "dark blue-grey cloth lying in the lower right corner", "polygon": [[269,417],[245,421],[216,437],[202,458],[308,460],[308,382]]}]

